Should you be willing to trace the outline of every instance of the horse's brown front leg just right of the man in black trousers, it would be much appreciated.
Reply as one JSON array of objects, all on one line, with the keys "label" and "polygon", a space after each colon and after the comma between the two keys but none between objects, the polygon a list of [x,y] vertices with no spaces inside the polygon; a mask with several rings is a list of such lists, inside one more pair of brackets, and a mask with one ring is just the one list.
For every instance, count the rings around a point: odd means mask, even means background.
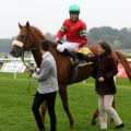
[{"label": "horse's brown front leg just right of the man in black trousers", "polygon": [[62,100],[63,109],[68,115],[69,121],[70,121],[70,128],[73,128],[74,120],[72,118],[72,115],[69,109],[69,103],[68,103],[68,94],[67,94],[67,86],[66,85],[59,85],[59,93]]}]

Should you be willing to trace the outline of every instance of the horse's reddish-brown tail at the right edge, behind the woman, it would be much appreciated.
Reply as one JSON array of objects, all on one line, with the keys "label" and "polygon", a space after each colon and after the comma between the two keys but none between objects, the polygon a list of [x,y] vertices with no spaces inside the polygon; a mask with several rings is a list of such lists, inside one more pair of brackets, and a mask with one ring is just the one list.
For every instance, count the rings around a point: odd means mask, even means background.
[{"label": "horse's reddish-brown tail at the right edge, behind the woman", "polygon": [[116,50],[116,53],[118,55],[118,57],[120,59],[120,62],[122,63],[122,66],[126,70],[126,73],[127,73],[129,80],[131,81],[131,68],[130,68],[130,64],[129,64],[126,56],[122,55],[120,51],[117,51],[117,50]]}]

